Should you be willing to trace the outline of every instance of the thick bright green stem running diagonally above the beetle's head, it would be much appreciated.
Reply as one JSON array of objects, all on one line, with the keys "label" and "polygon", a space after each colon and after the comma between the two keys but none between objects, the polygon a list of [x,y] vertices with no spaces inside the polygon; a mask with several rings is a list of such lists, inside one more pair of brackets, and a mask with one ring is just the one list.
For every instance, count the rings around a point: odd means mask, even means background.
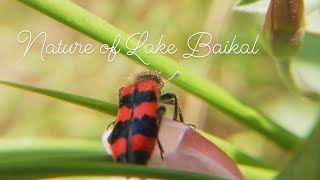
[{"label": "thick bright green stem running diagonally above the beetle's head", "polygon": [[[67,0],[18,0],[63,24],[82,32],[83,34],[108,45],[112,45],[113,41],[118,35],[122,39],[117,46],[122,54],[127,55],[129,49],[127,48],[126,40],[129,38],[120,29],[112,26],[103,19],[88,12],[75,3]],[[133,39],[128,43],[129,47],[136,47],[137,40]],[[146,54],[144,47],[136,51],[136,54],[143,59],[144,62],[150,63],[147,66],[149,69],[156,69],[161,71],[165,77],[171,77],[177,71],[180,71],[182,76],[173,79],[175,85],[182,89],[198,96],[210,105],[213,105],[226,114],[239,120],[240,123],[255,129],[259,133],[265,135],[273,142],[279,144],[283,148],[293,149],[300,139],[276,124],[270,118],[255,110],[253,107],[247,106],[237,99],[233,98],[226,91],[201,78],[200,76],[190,72],[189,70],[181,68],[174,60],[161,54]],[[143,64],[136,55],[129,56],[136,62]],[[144,65],[144,64],[143,64]]]}]

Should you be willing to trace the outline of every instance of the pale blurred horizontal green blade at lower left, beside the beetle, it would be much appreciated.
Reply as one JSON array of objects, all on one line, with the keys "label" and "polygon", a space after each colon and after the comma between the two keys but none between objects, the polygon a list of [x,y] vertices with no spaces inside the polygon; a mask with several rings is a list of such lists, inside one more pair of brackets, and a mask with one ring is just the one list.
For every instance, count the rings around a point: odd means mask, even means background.
[{"label": "pale blurred horizontal green blade at lower left, beside the beetle", "polygon": [[[112,157],[106,156],[101,143],[83,139],[48,139],[48,138],[25,138],[25,139],[1,139],[0,140],[0,166],[8,162],[20,162],[22,159],[32,161],[37,159],[65,159],[76,160],[79,156],[91,158],[97,154],[101,159],[112,161]],[[67,157],[67,159],[66,159]]]}]

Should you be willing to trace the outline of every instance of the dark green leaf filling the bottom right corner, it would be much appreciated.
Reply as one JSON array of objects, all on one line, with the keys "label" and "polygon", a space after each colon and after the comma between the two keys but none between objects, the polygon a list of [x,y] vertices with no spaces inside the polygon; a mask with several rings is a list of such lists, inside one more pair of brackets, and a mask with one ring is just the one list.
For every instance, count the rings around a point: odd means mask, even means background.
[{"label": "dark green leaf filling the bottom right corner", "polygon": [[284,169],[279,180],[300,180],[320,178],[320,121],[301,150]]}]

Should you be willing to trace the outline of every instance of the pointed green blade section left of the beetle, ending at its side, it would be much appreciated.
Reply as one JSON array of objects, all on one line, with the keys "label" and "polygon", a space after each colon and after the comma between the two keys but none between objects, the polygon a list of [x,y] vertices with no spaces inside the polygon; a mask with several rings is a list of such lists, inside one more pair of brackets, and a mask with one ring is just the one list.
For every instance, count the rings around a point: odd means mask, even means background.
[{"label": "pointed green blade section left of the beetle, ending at its side", "polygon": [[36,93],[43,94],[43,95],[47,95],[47,96],[50,96],[53,98],[57,98],[57,99],[60,99],[63,101],[67,101],[67,102],[70,102],[73,104],[87,107],[92,110],[107,113],[107,114],[110,114],[113,116],[115,116],[118,111],[118,107],[116,105],[111,104],[111,103],[107,103],[104,101],[100,101],[97,99],[92,99],[92,98],[69,94],[69,93],[60,92],[60,91],[56,91],[56,90],[32,87],[32,86],[28,86],[28,85],[24,85],[24,84],[18,84],[18,83],[7,82],[7,81],[0,81],[0,84],[12,86],[12,87],[19,88],[19,89],[28,90],[31,92],[36,92]]}]

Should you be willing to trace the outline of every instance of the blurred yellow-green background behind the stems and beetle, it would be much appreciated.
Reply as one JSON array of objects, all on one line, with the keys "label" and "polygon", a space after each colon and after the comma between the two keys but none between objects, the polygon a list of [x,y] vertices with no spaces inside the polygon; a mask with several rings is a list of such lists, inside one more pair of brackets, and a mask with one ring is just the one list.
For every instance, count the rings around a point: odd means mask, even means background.
[{"label": "blurred yellow-green background behind the stems and beetle", "polygon": [[[193,33],[207,31],[216,42],[238,36],[239,43],[253,44],[261,35],[263,18],[233,10],[234,0],[77,0],[79,5],[128,34],[149,31],[149,42],[157,44],[164,35],[174,43],[174,58],[181,67],[216,82],[242,102],[255,106],[295,134],[306,137],[317,118],[317,105],[289,91],[272,58],[263,50],[262,38],[256,55],[210,55],[183,59],[187,40]],[[0,1],[0,79],[56,89],[117,104],[118,89],[145,67],[118,55],[112,63],[101,55],[100,43],[15,1]],[[22,30],[35,37],[47,33],[47,43],[92,44],[91,55],[45,55],[40,60],[42,41],[36,41],[26,58],[26,44],[17,42]],[[42,39],[43,40],[43,39]],[[248,154],[279,167],[279,157],[288,157],[275,144],[241,126],[217,109],[209,107],[170,83],[163,92],[177,94],[185,122],[227,139]],[[168,113],[168,116],[171,112]],[[84,138],[100,140],[115,117],[74,106],[26,91],[0,87],[1,138]]]}]

